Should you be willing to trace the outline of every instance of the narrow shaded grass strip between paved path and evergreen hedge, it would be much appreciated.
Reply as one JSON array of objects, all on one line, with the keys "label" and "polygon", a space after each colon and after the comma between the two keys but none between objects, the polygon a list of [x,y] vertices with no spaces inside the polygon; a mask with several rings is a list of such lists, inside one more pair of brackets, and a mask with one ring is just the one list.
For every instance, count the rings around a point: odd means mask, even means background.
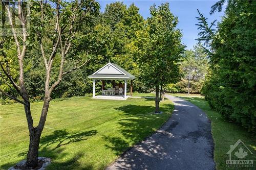
[{"label": "narrow shaded grass strip between paved path and evergreen hedge", "polygon": [[[187,97],[185,99],[199,108],[201,108],[211,120],[212,137],[215,142],[214,159],[216,162],[217,169],[234,169],[226,167],[226,160],[228,160],[228,155],[226,154],[230,145],[241,139],[253,155],[249,154],[245,157],[245,160],[254,160],[254,167],[243,167],[235,169],[255,169],[256,167],[256,138],[252,134],[248,133],[241,126],[235,123],[227,122],[219,113],[213,111],[209,108],[207,101],[202,97]],[[245,148],[245,147],[243,147]],[[242,159],[243,160],[243,159]]]}]

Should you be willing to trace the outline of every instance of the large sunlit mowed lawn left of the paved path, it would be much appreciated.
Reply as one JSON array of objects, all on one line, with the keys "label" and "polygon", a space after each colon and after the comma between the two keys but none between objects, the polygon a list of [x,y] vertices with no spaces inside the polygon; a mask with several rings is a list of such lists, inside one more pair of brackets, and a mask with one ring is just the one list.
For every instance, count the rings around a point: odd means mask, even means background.
[{"label": "large sunlit mowed lawn left of the paved path", "polygon": [[[173,104],[154,99],[126,101],[73,98],[51,102],[40,141],[39,156],[52,158],[48,169],[103,169],[135,143],[166,122]],[[26,158],[29,135],[24,108],[2,105],[0,113],[0,169]],[[31,106],[37,125],[42,102]]]}]

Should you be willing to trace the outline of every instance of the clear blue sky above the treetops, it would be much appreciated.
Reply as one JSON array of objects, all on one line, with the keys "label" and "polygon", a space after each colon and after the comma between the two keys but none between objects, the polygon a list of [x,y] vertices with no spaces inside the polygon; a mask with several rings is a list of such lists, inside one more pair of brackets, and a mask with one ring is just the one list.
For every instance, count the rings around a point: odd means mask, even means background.
[{"label": "clear blue sky above the treetops", "polygon": [[[104,11],[106,4],[113,3],[115,1],[101,0],[98,1],[101,6],[101,12]],[[187,49],[193,48],[193,45],[197,43],[195,40],[198,36],[199,30],[197,30],[196,16],[198,16],[197,9],[205,16],[208,17],[208,21],[221,20],[222,12],[216,12],[213,15],[209,15],[210,7],[217,1],[122,1],[127,7],[134,3],[140,10],[139,13],[146,19],[150,16],[150,7],[153,4],[157,6],[162,3],[169,3],[170,11],[179,18],[178,28],[182,30],[182,43],[187,46]]]}]

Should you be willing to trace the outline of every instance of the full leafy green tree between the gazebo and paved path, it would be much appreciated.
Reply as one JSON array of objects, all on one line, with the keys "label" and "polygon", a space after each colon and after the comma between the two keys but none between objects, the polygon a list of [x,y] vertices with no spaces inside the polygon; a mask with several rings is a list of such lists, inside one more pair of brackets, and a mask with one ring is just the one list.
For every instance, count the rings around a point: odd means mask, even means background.
[{"label": "full leafy green tree between the gazebo and paved path", "polygon": [[179,62],[184,45],[181,31],[176,28],[178,18],[169,10],[169,4],[150,9],[144,27],[139,30],[134,42],[134,55],[140,72],[140,80],[156,89],[156,112],[159,112],[159,92],[163,86],[174,83],[181,77]]}]

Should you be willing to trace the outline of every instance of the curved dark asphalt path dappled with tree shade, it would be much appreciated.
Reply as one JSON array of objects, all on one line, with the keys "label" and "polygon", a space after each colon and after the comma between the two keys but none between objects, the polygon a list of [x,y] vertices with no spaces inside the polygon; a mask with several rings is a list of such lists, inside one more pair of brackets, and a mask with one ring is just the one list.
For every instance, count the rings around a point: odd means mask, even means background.
[{"label": "curved dark asphalt path dappled with tree shade", "polygon": [[206,114],[171,95],[172,117],[155,134],[121,155],[106,169],[215,169],[214,143]]}]

